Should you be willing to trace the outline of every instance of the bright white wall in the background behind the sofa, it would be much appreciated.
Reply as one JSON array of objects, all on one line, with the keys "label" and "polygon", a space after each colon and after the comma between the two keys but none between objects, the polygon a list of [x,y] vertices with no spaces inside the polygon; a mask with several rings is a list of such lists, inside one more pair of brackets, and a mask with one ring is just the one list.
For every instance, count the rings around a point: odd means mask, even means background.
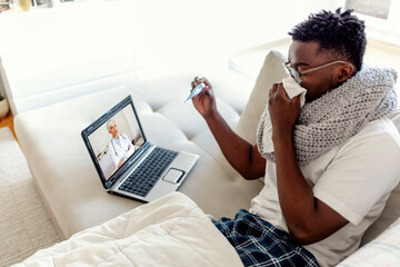
[{"label": "bright white wall in the background behind the sofa", "polygon": [[17,115],[144,73],[227,71],[230,53],[284,38],[337,2],[116,0],[1,13],[2,80]]}]

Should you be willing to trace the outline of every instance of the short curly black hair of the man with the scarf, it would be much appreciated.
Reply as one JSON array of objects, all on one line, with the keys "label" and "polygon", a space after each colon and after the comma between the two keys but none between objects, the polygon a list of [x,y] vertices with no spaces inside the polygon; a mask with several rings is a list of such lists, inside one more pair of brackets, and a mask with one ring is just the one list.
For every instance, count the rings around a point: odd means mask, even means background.
[{"label": "short curly black hair of the man with the scarf", "polygon": [[321,51],[327,51],[338,60],[362,67],[367,38],[364,22],[352,14],[352,10],[336,12],[322,10],[294,26],[289,32],[293,41],[318,42]]}]

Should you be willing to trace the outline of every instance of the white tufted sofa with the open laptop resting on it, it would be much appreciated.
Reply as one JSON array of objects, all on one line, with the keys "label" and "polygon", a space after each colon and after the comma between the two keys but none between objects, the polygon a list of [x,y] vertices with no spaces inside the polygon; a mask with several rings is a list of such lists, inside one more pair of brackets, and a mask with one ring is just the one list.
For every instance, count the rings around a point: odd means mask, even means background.
[{"label": "white tufted sofa with the open laptop resting on it", "polygon": [[[219,110],[250,142],[256,140],[258,119],[268,100],[267,89],[286,76],[280,68],[283,61],[281,55],[270,52],[252,91],[251,81],[244,78],[210,77]],[[14,118],[16,132],[37,187],[64,238],[141,205],[104,192],[80,137],[83,128],[127,95],[132,96],[151,141],[200,155],[179,191],[217,218],[231,217],[238,209],[249,208],[250,200],[263,186],[262,180],[242,179],[224,160],[192,105],[183,103],[192,78],[192,73],[179,73],[134,82]],[[392,119],[400,128],[400,111],[394,112]],[[372,240],[399,216],[400,186],[390,196],[383,214],[370,227],[362,244]],[[393,229],[399,233],[399,227]],[[398,250],[399,247],[397,244]],[[400,260],[399,255],[397,260]]]}]

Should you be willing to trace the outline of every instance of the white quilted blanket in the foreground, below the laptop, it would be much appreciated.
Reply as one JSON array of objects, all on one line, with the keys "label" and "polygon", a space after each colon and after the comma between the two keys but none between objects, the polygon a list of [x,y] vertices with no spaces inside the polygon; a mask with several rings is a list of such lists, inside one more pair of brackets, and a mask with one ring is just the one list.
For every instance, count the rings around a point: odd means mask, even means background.
[{"label": "white quilted blanket in the foreground, below the laptop", "polygon": [[16,266],[242,266],[234,248],[188,197],[173,192]]}]

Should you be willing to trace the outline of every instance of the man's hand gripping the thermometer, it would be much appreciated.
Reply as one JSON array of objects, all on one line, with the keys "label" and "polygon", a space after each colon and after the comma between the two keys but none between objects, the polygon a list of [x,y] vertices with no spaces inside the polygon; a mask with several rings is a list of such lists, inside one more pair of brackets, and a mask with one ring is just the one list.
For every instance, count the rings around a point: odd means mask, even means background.
[{"label": "man's hand gripping the thermometer", "polygon": [[199,113],[207,119],[217,112],[217,105],[212,92],[212,86],[206,78],[194,77],[191,82],[192,90],[201,82],[204,82],[206,87],[198,96],[192,98],[192,101]]}]

